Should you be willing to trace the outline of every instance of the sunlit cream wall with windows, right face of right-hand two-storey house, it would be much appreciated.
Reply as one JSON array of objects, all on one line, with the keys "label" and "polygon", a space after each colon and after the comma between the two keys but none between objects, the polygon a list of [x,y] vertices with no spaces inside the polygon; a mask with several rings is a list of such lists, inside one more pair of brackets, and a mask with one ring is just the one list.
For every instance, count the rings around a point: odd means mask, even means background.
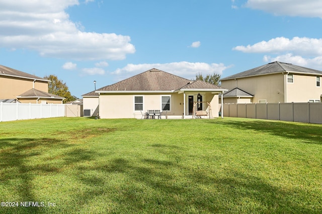
[{"label": "sunlit cream wall with windows, right face of right-hand two-storey house", "polygon": [[[320,80],[322,81],[322,77]],[[322,87],[316,86],[316,76],[293,74],[293,82],[287,82],[286,85],[286,102],[308,102],[309,99],[321,98]]]}]

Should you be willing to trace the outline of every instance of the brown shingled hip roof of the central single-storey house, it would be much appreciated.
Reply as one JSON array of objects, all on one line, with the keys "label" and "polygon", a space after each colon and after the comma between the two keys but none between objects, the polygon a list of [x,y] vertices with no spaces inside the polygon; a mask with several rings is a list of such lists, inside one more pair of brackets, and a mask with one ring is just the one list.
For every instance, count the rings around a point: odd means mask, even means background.
[{"label": "brown shingled hip roof of the central single-storey house", "polygon": [[[102,87],[97,92],[105,91],[175,91],[180,89],[221,89],[219,86],[200,80],[191,81],[171,73],[152,68],[112,85]],[[93,93],[90,92],[90,93]],[[88,93],[89,94],[89,93]],[[88,95],[88,94],[84,94]]]}]

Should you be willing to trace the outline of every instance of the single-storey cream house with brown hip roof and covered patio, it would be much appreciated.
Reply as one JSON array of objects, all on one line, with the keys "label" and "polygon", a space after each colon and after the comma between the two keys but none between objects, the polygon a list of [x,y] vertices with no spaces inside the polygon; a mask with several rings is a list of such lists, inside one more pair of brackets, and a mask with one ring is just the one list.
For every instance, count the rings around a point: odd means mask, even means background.
[{"label": "single-storey cream house with brown hip roof and covered patio", "polygon": [[95,110],[98,101],[101,118],[141,118],[141,113],[148,110],[167,112],[169,118],[186,118],[192,117],[195,104],[198,111],[218,117],[218,94],[224,91],[218,85],[152,68],[84,94],[84,110],[90,106],[87,101],[92,100],[95,103],[88,109]]}]

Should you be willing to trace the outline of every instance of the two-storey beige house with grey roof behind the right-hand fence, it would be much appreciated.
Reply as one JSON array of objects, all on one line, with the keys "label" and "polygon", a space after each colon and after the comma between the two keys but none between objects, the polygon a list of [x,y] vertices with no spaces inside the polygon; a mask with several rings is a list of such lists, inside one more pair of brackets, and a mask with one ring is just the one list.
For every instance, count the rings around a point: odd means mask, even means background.
[{"label": "two-storey beige house with grey roof behind the right-hand fence", "polygon": [[220,79],[224,103],[320,102],[322,71],[272,62]]}]

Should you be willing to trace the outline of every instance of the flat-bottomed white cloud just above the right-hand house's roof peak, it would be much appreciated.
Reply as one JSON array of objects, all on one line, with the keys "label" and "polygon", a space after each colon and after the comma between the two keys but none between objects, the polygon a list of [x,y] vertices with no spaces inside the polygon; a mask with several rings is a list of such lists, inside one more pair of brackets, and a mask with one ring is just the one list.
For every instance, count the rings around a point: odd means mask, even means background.
[{"label": "flat-bottomed white cloud just above the right-hand house's roof peak", "polygon": [[237,46],[233,50],[245,53],[287,53],[292,52],[300,55],[321,56],[322,39],[312,39],[306,37],[294,37],[288,39],[277,37],[269,41],[262,41],[254,45]]}]

